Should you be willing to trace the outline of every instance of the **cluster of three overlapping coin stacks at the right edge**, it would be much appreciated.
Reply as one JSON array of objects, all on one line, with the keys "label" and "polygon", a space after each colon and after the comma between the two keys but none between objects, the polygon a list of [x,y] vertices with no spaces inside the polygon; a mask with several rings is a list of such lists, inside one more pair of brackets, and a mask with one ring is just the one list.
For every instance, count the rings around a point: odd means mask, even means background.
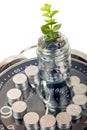
[{"label": "cluster of three overlapping coin stacks at the right edge", "polygon": [[71,76],[70,84],[72,86],[72,103],[86,108],[87,106],[87,85],[80,81],[80,78],[77,76]]}]

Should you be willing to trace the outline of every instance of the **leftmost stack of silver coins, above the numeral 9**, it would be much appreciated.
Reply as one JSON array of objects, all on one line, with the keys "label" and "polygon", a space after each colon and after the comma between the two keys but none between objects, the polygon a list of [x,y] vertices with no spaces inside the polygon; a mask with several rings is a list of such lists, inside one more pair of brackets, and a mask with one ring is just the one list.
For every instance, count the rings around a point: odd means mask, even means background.
[{"label": "leftmost stack of silver coins, above the numeral 9", "polygon": [[17,88],[12,88],[7,92],[7,98],[9,105],[12,105],[15,101],[21,100],[22,92]]}]

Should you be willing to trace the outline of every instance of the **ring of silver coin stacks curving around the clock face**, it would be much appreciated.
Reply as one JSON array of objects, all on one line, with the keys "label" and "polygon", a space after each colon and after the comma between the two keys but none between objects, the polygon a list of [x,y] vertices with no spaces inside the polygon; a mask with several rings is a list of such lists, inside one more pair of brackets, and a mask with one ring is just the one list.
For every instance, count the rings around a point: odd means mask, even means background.
[{"label": "ring of silver coin stacks curving around the clock face", "polygon": [[29,84],[39,83],[38,72],[39,70],[36,66],[28,66],[24,73],[13,76],[14,88],[8,90],[6,94],[8,106],[3,106],[0,109],[1,117],[8,118],[12,115],[15,120],[22,119],[27,130],[71,128],[72,121],[79,120],[82,117],[82,109],[85,109],[87,104],[87,86],[81,83],[79,77],[71,76],[70,84],[72,86],[71,91],[73,92],[71,104],[66,107],[65,111],[59,112],[55,116],[46,113],[40,117],[38,113],[27,110],[28,106],[25,100],[27,92],[26,98],[29,96]]}]

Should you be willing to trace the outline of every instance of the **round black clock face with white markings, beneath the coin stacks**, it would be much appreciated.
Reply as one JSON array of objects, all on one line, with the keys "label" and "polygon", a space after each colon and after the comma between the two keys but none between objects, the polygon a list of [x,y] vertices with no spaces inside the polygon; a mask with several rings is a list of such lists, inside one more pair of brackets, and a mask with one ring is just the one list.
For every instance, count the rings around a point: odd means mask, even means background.
[{"label": "round black clock face with white markings, beneath the coin stacks", "polygon": [[[17,73],[23,72],[25,68],[29,65],[38,65],[38,59],[35,58],[21,61],[19,63],[16,63],[15,65],[12,65],[11,67],[9,67],[0,74],[0,108],[4,105],[7,105],[6,93],[9,89],[14,87],[12,77]],[[81,82],[87,85],[87,63],[72,58],[71,75],[78,76],[81,79]],[[28,111],[35,111],[40,115],[40,117],[43,114],[45,114],[45,106],[42,100],[39,98],[39,96],[33,89],[29,91],[29,96],[26,102],[28,104]],[[23,122],[14,120],[12,116],[6,119],[2,117],[0,118],[6,127],[8,125],[13,125],[14,130],[25,130]],[[87,129],[87,110],[85,109],[83,111],[82,118],[80,120],[77,120],[77,122],[72,123],[71,130],[86,130],[86,129]]]}]

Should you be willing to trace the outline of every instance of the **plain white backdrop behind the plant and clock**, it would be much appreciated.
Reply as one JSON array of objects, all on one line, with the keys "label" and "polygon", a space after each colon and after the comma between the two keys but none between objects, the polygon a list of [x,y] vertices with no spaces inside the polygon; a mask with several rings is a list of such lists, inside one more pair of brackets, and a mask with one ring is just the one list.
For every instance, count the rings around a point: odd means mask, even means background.
[{"label": "plain white backdrop behind the plant and clock", "polygon": [[71,48],[87,52],[87,0],[0,0],[0,62],[37,44],[45,3],[60,11],[56,18]]}]

